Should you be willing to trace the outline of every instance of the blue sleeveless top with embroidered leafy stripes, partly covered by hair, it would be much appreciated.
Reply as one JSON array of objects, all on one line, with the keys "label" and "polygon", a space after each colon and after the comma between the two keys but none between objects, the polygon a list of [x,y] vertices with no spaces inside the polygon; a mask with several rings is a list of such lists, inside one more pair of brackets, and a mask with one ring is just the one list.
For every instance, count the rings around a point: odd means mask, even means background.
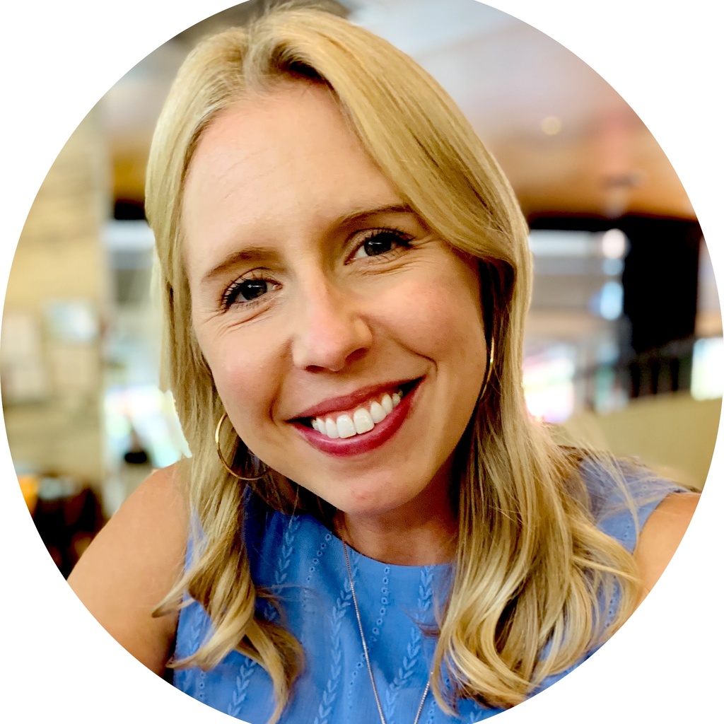
[{"label": "blue sleeveless top with embroidered leafy stripes, partly covered by hair", "polygon": [[[670,492],[668,481],[639,473],[628,480],[636,505],[634,521],[625,496],[613,481],[584,463],[592,513],[599,529],[633,551],[636,522],[644,526]],[[280,724],[358,724],[379,722],[352,601],[342,542],[311,515],[285,515],[248,497],[245,543],[253,581],[277,595],[281,623],[305,652],[303,673]],[[435,611],[445,602],[449,564],[402,566],[379,563],[348,549],[362,626],[387,724],[412,724],[431,669]],[[190,560],[190,557],[187,560]],[[266,602],[262,615],[279,620]],[[618,606],[615,595],[608,612]],[[193,654],[210,635],[210,620],[198,602],[183,608],[174,657]],[[568,671],[588,658],[589,652]],[[565,674],[550,676],[544,689]],[[264,669],[239,652],[231,652],[214,669],[174,671],[174,686],[201,702],[250,724],[266,724],[274,710],[271,680]],[[536,693],[536,692],[534,692]],[[419,724],[471,724],[502,710],[463,700],[458,716],[440,710],[426,696]]]}]

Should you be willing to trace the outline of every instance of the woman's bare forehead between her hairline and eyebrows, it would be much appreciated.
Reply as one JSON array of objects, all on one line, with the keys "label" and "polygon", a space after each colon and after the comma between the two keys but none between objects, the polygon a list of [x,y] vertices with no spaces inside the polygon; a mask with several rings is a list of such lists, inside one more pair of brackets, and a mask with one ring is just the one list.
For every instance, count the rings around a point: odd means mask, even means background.
[{"label": "woman's bare forehead between her hairline and eyebrows", "polygon": [[398,201],[331,91],[288,83],[237,101],[204,132],[184,190],[186,251]]}]

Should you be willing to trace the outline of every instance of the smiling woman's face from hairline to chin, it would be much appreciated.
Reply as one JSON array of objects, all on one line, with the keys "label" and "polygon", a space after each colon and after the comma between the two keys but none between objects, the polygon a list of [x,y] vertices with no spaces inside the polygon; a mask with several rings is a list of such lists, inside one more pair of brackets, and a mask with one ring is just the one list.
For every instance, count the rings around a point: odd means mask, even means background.
[{"label": "smiling woman's face from hairline to chin", "polygon": [[445,510],[487,363],[476,264],[404,205],[329,91],[217,117],[183,224],[193,328],[250,450],[348,515]]}]

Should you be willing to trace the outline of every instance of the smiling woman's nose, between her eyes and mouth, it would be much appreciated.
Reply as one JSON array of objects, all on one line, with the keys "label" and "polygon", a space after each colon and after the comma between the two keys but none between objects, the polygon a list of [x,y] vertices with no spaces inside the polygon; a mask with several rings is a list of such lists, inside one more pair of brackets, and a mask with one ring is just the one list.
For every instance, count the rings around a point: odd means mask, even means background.
[{"label": "smiling woman's nose, between her eyes and mouth", "polygon": [[361,300],[321,275],[296,300],[292,360],[298,369],[340,372],[362,358],[372,342]]}]

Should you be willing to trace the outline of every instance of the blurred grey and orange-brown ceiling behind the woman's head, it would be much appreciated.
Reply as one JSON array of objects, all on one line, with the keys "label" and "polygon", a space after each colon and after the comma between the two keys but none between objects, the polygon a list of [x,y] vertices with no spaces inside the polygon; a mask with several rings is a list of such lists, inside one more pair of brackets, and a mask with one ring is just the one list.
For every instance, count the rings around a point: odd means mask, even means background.
[{"label": "blurred grey and orange-brown ceiling behind the woman's head", "polygon": [[[245,22],[260,5],[251,0],[177,35],[104,96],[117,199],[143,199],[153,125],[189,49],[203,35]],[[647,127],[605,80],[547,35],[474,0],[327,5],[437,78],[500,161],[529,217],[694,219]]]}]

